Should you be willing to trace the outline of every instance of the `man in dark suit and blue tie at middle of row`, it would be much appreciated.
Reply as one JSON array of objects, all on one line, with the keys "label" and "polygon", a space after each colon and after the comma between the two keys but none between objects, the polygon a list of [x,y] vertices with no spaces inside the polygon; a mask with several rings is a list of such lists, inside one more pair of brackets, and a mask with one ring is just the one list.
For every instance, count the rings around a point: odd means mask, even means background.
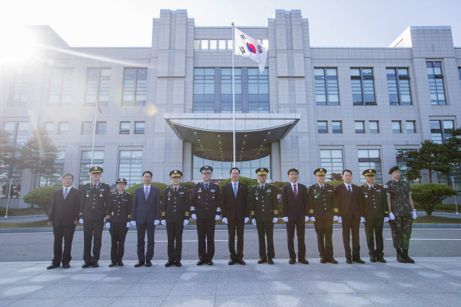
[{"label": "man in dark suit and blue tie at middle of row", "polygon": [[[250,201],[248,187],[239,183],[240,170],[230,169],[230,183],[222,187],[222,223],[227,224],[229,234],[229,265],[238,262],[244,265],[244,229],[250,220]],[[237,253],[235,253],[235,229],[237,228]]]}]

